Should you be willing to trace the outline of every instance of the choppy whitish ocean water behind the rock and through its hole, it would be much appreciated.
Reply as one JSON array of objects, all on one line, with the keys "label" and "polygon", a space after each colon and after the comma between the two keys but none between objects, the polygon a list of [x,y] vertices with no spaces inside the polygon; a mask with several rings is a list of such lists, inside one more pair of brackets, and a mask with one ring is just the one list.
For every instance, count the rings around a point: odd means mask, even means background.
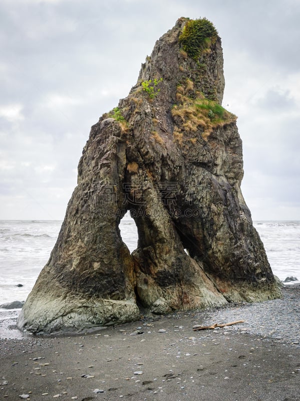
[{"label": "choppy whitish ocean water behind the rock and through its hole", "polygon": [[[58,237],[61,221],[0,221],[0,305],[25,301]],[[300,279],[300,221],[254,222],[273,273],[284,280]],[[137,245],[136,226],[129,216],[120,223],[130,251]],[[22,284],[22,287],[18,287]],[[0,309],[4,312],[3,309]]]}]

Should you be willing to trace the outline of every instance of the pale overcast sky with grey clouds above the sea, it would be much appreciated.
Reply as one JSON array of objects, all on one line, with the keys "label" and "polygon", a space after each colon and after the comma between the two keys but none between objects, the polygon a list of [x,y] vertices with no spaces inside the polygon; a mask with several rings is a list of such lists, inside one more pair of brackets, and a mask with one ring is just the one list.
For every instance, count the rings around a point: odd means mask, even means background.
[{"label": "pale overcast sky with grey clouds above the sea", "polygon": [[253,220],[300,220],[299,0],[1,0],[0,219],[63,219],[91,125],[179,17],[222,39]]}]

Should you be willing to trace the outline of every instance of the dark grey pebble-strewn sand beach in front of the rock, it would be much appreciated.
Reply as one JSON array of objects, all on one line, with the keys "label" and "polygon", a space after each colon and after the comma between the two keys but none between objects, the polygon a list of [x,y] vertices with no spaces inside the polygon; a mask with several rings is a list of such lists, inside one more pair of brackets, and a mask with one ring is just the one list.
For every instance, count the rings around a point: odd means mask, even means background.
[{"label": "dark grey pebble-strewn sand beach in front of the rock", "polygon": [[299,401],[299,331],[295,285],[281,300],[149,317],[96,334],[2,339],[0,399]]}]

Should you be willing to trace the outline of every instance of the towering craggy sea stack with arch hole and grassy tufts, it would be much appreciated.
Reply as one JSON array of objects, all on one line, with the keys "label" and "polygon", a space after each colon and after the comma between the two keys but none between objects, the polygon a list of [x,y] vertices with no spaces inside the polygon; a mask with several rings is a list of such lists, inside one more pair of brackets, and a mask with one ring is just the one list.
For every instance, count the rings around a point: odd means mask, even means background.
[{"label": "towering craggy sea stack with arch hole and grassy tufts", "polygon": [[[236,117],[220,104],[220,38],[181,18],[95,124],[50,260],[18,320],[58,332],[280,296],[240,190]],[[130,210],[138,247],[119,223]]]}]

